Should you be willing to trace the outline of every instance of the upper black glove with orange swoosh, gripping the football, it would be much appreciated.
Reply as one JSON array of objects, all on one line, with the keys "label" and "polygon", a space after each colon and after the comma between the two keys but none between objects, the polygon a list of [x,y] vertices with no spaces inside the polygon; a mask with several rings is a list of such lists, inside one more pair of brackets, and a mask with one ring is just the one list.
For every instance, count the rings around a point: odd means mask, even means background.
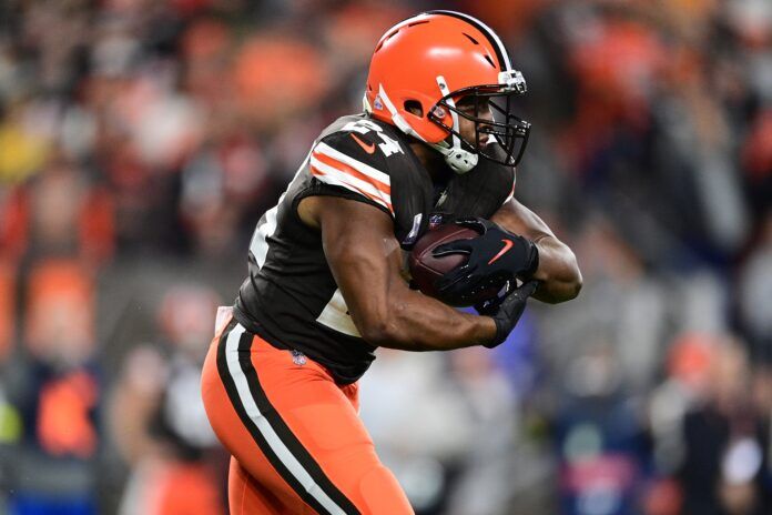
[{"label": "upper black glove with orange swoosh, gripping the football", "polygon": [[[459,219],[458,225],[480,235],[437,246],[433,255],[469,254],[466,264],[437,280],[441,299],[456,305],[469,305],[482,290],[499,290],[519,277],[527,281],[539,266],[539,252],[530,240],[505,231],[485,219]],[[471,302],[469,302],[471,301]]]}]

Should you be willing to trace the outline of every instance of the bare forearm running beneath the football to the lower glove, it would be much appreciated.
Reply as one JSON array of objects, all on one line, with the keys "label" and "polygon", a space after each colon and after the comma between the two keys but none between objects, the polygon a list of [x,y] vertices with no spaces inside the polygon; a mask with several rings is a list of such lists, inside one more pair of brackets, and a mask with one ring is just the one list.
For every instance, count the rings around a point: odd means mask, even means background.
[{"label": "bare forearm running beneath the football to the lower glove", "polygon": [[449,351],[487,344],[496,336],[492,319],[412,291],[389,302],[384,315],[363,329],[369,343],[404,351]]}]

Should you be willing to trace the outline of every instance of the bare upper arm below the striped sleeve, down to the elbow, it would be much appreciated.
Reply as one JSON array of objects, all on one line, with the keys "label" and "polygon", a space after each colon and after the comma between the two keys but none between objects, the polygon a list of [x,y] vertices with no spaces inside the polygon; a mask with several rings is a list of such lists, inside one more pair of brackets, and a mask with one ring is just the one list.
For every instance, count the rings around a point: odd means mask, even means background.
[{"label": "bare upper arm below the striped sleeve, down to the elbow", "polygon": [[400,251],[392,219],[364,202],[316,199],[327,263],[354,324],[367,339],[387,319],[389,289],[400,281]]}]

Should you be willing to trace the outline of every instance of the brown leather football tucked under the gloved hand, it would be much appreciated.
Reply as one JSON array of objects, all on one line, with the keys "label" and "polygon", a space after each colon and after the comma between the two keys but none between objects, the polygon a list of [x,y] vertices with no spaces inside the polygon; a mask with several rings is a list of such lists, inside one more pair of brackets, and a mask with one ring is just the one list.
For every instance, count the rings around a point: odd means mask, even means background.
[{"label": "brown leather football tucked under the gloved hand", "polygon": [[[440,258],[435,258],[431,253],[433,251],[443,243],[449,243],[456,240],[471,240],[477,238],[479,234],[468,228],[463,228],[454,223],[448,223],[439,225],[438,228],[424,234],[413,248],[410,255],[408,258],[408,265],[410,269],[410,275],[413,282],[418,286],[421,293],[425,295],[438,299],[446,304],[454,305],[453,302],[448,302],[438,294],[435,283],[439,277],[450,272],[457,266],[467,262],[467,256],[465,254],[448,254]],[[484,301],[489,299],[490,292],[484,292],[485,297],[480,299]],[[494,292],[495,294],[496,292]]]}]

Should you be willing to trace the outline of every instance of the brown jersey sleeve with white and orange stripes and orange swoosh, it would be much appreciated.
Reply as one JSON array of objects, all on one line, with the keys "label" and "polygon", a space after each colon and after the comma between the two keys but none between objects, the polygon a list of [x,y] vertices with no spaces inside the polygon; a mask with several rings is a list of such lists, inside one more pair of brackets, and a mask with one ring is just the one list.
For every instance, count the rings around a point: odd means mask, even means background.
[{"label": "brown jersey sleeve with white and orange stripes and orange swoosh", "polygon": [[365,202],[394,219],[389,168],[373,135],[341,130],[324,137],[311,152],[309,170],[318,194]]}]

